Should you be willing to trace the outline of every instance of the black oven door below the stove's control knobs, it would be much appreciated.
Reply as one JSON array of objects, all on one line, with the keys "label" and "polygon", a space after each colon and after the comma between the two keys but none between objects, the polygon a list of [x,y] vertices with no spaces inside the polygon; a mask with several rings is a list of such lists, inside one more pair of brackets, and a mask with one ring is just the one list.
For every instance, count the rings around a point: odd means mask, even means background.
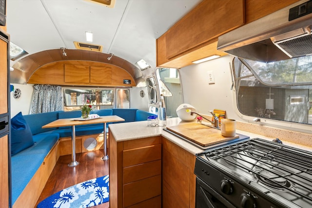
[{"label": "black oven door below the stove's control knobs", "polygon": [[235,208],[215,189],[196,177],[195,208]]}]

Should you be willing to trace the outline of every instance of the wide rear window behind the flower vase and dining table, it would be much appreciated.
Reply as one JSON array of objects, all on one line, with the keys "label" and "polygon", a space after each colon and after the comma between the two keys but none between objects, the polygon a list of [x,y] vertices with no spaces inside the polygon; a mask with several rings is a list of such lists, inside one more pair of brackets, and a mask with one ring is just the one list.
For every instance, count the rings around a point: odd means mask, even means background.
[{"label": "wide rear window behind the flower vase and dining table", "polygon": [[94,109],[113,108],[114,89],[63,89],[64,111],[79,110],[80,106],[90,104]]}]

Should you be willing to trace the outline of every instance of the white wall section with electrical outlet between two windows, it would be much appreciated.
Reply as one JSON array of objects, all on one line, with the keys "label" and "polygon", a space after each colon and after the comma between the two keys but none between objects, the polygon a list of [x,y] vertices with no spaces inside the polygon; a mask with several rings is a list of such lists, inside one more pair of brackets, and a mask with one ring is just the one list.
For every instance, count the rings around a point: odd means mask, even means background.
[{"label": "white wall section with electrical outlet between two windows", "polygon": [[[225,56],[180,69],[184,103],[195,107],[198,113],[220,109],[228,118],[240,120],[235,113],[230,64],[234,57]],[[208,71],[215,76],[215,84],[208,84]]]}]

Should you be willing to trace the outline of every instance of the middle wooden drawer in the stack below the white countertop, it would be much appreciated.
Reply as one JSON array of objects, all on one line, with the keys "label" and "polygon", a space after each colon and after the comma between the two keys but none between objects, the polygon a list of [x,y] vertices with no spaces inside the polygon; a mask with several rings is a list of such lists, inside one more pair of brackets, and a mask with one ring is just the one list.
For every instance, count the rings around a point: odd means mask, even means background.
[{"label": "middle wooden drawer in the stack below the white countertop", "polygon": [[123,168],[123,184],[161,174],[161,160]]}]

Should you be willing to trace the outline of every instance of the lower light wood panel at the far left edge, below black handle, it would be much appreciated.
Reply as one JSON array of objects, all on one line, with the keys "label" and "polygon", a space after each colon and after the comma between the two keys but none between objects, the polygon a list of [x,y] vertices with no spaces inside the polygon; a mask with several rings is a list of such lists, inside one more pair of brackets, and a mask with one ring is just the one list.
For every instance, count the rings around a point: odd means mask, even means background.
[{"label": "lower light wood panel at the far left edge, below black handle", "polygon": [[9,205],[9,154],[8,135],[0,138],[0,207],[6,208]]}]

